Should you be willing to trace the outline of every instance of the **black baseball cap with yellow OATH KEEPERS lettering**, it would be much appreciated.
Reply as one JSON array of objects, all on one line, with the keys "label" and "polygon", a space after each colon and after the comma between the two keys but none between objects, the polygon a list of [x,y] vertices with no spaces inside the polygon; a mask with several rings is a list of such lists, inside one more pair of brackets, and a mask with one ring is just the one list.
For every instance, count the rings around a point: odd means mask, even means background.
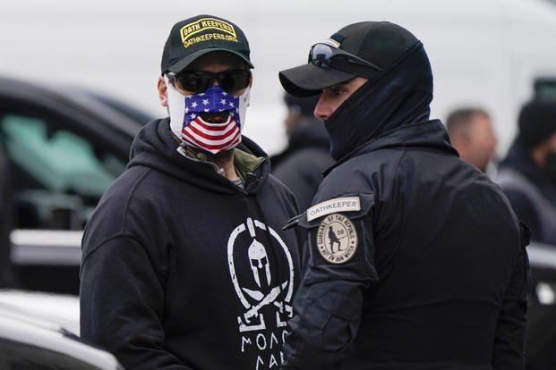
[{"label": "black baseball cap with yellow OATH KEEPERS lettering", "polygon": [[249,42],[244,31],[223,18],[201,14],[178,21],[170,30],[162,53],[162,74],[183,71],[201,55],[226,51],[239,56],[249,67]]}]

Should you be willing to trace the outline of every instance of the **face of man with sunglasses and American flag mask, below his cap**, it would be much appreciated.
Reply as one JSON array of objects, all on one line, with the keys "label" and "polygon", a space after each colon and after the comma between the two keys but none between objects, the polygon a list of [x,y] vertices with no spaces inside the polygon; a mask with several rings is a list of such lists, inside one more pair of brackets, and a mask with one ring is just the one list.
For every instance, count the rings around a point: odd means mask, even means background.
[{"label": "face of man with sunglasses and American flag mask, below his cap", "polygon": [[[237,68],[227,69],[228,61]],[[185,153],[216,164],[240,185],[232,171],[231,149],[241,142],[249,105],[252,76],[245,67],[243,61],[218,51],[198,58],[189,71],[167,72],[158,81],[161,104],[167,106],[175,137],[189,149]],[[220,71],[223,68],[227,70]]]}]

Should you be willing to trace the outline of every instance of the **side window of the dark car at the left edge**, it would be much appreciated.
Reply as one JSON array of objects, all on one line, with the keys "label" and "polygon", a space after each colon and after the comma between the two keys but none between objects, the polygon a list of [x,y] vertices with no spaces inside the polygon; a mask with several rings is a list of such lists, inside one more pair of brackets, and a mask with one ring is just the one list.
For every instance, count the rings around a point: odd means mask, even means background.
[{"label": "side window of the dark car at the left edge", "polygon": [[81,229],[125,169],[90,139],[41,118],[4,114],[0,139],[15,173],[18,228]]}]

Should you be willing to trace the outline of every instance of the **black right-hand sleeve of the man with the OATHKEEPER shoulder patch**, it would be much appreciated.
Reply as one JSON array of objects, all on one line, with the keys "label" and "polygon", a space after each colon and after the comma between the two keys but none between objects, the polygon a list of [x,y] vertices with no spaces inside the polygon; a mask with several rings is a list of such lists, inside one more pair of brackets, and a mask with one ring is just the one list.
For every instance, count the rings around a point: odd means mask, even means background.
[{"label": "black right-hand sleeve of the man with the OATHKEEPER shoulder patch", "polygon": [[527,295],[530,288],[529,261],[526,245],[528,229],[521,225],[522,242],[508,290],[502,302],[496,324],[492,368],[494,370],[524,370]]}]

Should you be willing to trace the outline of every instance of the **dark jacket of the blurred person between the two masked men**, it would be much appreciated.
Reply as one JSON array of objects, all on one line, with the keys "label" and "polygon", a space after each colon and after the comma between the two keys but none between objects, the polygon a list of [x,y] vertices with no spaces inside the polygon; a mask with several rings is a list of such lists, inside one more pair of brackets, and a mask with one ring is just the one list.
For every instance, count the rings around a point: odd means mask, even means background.
[{"label": "dark jacket of the blurred person between the two masked men", "polygon": [[304,211],[319,189],[322,172],[334,164],[329,136],[322,122],[307,119],[292,132],[287,148],[270,157],[271,172],[294,193]]}]

